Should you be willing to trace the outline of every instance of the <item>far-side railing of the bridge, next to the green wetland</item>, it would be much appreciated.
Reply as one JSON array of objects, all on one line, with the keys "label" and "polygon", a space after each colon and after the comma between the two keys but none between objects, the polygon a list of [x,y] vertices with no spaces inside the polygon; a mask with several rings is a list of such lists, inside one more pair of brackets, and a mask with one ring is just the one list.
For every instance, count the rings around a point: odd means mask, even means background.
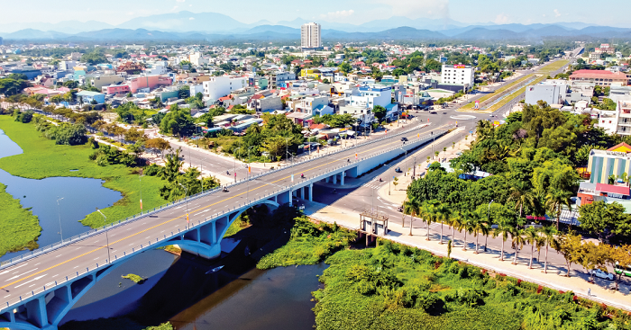
[{"label": "far-side railing of the bridge, next to the green wetland", "polygon": [[[342,152],[345,152],[345,151],[349,151],[349,150],[351,150],[353,148],[356,148],[356,147],[363,147],[363,146],[367,146],[367,145],[370,145],[370,144],[374,144],[374,143],[380,142],[380,141],[382,141],[384,139],[387,139],[387,138],[393,138],[393,137],[398,137],[400,135],[408,134],[411,131],[414,131],[416,129],[425,128],[428,125],[429,124],[424,124],[424,125],[421,125],[420,127],[418,127],[418,126],[412,127],[410,129],[406,129],[406,130],[402,130],[402,131],[399,131],[399,132],[396,132],[396,133],[392,133],[391,135],[387,135],[386,134],[386,135],[384,135],[381,138],[374,138],[374,139],[366,140],[366,141],[361,142],[361,143],[359,143],[357,145],[354,145],[354,146],[341,147],[341,148],[339,148],[337,150],[334,150],[334,151],[331,151],[331,152],[323,152],[319,156],[312,156],[312,157],[309,157],[307,159],[301,159],[301,160],[299,160],[297,162],[294,162],[294,163],[292,163],[290,165],[279,167],[279,168],[276,168],[274,170],[270,170],[268,172],[263,172],[261,174],[251,175],[249,178],[248,177],[242,178],[241,180],[237,181],[236,183],[227,184],[226,187],[227,188],[235,187],[235,186],[238,186],[238,185],[240,185],[242,183],[246,183],[247,181],[250,181],[250,180],[256,180],[256,179],[261,178],[263,176],[274,174],[274,173],[277,173],[279,171],[284,171],[284,170],[286,170],[288,168],[291,168],[291,167],[294,167],[294,166],[297,166],[297,165],[302,165],[302,164],[305,164],[305,163],[308,163],[308,162],[315,161],[316,159],[320,159],[321,157],[324,157],[324,156],[336,155],[336,154],[339,154],[339,153],[342,153]],[[361,159],[365,159],[365,158],[366,157],[362,157]],[[152,210],[149,210],[149,211],[146,211],[146,212],[140,212],[140,213],[135,214],[135,215],[133,215],[131,217],[127,217],[125,219],[120,219],[120,220],[118,220],[116,222],[113,222],[113,223],[110,223],[110,224],[106,224],[103,227],[97,227],[97,228],[94,228],[94,229],[90,229],[90,230],[88,230],[88,231],[86,231],[84,233],[78,234],[76,236],[71,236],[71,237],[63,239],[63,240],[61,240],[61,241],[59,241],[57,243],[53,243],[51,245],[46,245],[46,246],[40,247],[38,249],[32,250],[30,252],[27,252],[25,254],[21,254],[19,256],[14,257],[14,258],[5,260],[3,262],[0,262],[0,270],[4,269],[4,268],[6,268],[6,267],[8,267],[8,266],[10,266],[10,265],[12,265],[14,263],[20,263],[20,262],[23,262],[25,260],[31,259],[33,257],[36,257],[38,255],[46,254],[46,253],[48,253],[50,251],[58,249],[59,247],[78,242],[78,241],[86,239],[86,238],[88,238],[90,236],[95,236],[95,235],[101,234],[101,233],[103,233],[105,231],[105,229],[109,229],[109,228],[112,228],[112,227],[118,227],[118,226],[124,225],[126,223],[130,223],[130,222],[136,221],[138,219],[143,219],[145,217],[151,216],[152,214],[154,214],[156,212],[159,212],[159,211],[162,211],[162,210],[166,210],[166,209],[169,209],[169,208],[172,208],[172,207],[179,206],[179,205],[181,205],[183,203],[186,203],[187,201],[195,201],[195,200],[197,200],[197,199],[199,199],[201,197],[206,197],[206,196],[208,196],[208,195],[210,195],[210,194],[212,194],[214,192],[219,191],[220,189],[221,189],[221,187],[215,187],[215,188],[213,188],[213,189],[211,189],[209,191],[206,191],[206,192],[199,192],[199,193],[197,193],[195,195],[191,195],[191,196],[185,197],[184,199],[181,199],[179,201],[169,202],[169,203],[160,205],[160,206],[158,206],[156,208],[153,208]]]}]

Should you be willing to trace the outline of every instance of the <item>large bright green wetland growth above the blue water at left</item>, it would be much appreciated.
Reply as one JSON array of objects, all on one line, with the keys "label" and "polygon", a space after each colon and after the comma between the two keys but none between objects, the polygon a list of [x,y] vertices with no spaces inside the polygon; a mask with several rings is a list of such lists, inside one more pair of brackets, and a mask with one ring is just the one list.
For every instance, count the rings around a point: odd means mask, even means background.
[{"label": "large bright green wetland growth above the blue water at left", "polygon": [[[140,183],[138,174],[124,165],[99,166],[88,156],[91,147],[56,145],[54,141],[41,137],[32,124],[15,122],[11,116],[0,116],[0,129],[23,149],[23,154],[0,158],[0,168],[10,174],[30,179],[52,176],[73,176],[105,180],[105,188],[123,194],[112,207],[103,210],[108,222],[133,216],[140,211]],[[78,170],[70,172],[70,170]],[[142,177],[142,206],[153,209],[165,201],[160,197],[164,182],[154,176]],[[5,211],[5,204],[0,206]],[[103,225],[103,217],[94,212],[81,221],[90,227]]]}]

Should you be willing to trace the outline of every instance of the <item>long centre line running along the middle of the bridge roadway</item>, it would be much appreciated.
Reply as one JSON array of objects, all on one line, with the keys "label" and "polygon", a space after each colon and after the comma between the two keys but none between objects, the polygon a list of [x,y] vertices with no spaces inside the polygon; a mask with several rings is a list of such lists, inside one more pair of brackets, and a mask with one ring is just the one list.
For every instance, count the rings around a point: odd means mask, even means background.
[{"label": "long centre line running along the middle of the bridge roadway", "polygon": [[[436,129],[441,129],[442,127],[443,127],[443,126],[438,127],[438,128],[436,128]],[[419,129],[423,129],[423,128],[419,128]],[[373,150],[376,150],[376,149],[383,149],[383,147],[386,147],[386,146],[389,146],[389,145],[393,145],[393,144],[399,144],[399,143],[400,143],[400,141],[398,141],[398,140],[397,140],[397,141],[394,141],[394,142],[392,142],[392,143],[388,143],[388,144],[386,144],[386,145],[384,145],[384,146],[373,147],[373,148],[370,148],[370,149],[368,149],[368,150],[366,150],[366,151],[359,152],[359,153],[357,153],[357,154],[360,154],[360,155],[361,155],[361,154],[366,154],[366,153],[369,153],[370,151],[373,151]],[[336,163],[336,162],[341,162],[341,161],[344,161],[344,159],[343,159],[343,158],[341,158],[341,159],[335,159],[335,160],[333,160],[333,161],[331,161],[331,162],[325,163],[325,164],[323,164],[323,165],[317,165],[317,166],[312,167],[312,168],[310,168],[310,169],[307,169],[306,171],[303,171],[303,172],[314,171],[315,169],[318,169],[318,168],[320,168],[320,167],[323,167],[323,166],[326,166],[326,165],[331,165],[331,164],[333,164],[333,163]],[[288,176],[282,177],[282,178],[280,178],[279,180],[273,181],[273,182],[271,182],[271,183],[278,183],[278,182],[280,182],[280,181],[287,180],[287,179],[289,179],[289,178],[291,178],[291,175],[288,175]],[[194,213],[196,213],[196,212],[198,212],[198,211],[200,211],[200,210],[206,210],[206,209],[208,209],[208,208],[210,208],[210,207],[213,207],[213,206],[215,206],[215,205],[217,205],[217,204],[223,203],[224,201],[230,201],[230,200],[235,199],[235,198],[237,198],[237,197],[239,197],[239,196],[242,196],[242,195],[244,195],[244,194],[246,194],[246,193],[248,193],[248,192],[253,192],[253,191],[259,190],[259,189],[261,189],[261,188],[263,188],[263,187],[266,187],[266,186],[268,186],[268,185],[270,185],[270,183],[266,183],[266,184],[263,184],[263,185],[261,185],[261,186],[259,186],[259,187],[252,188],[251,190],[248,190],[248,191],[245,191],[245,192],[238,193],[238,194],[236,194],[236,195],[234,195],[234,196],[232,196],[232,197],[225,198],[225,199],[224,199],[224,200],[222,200],[222,201],[216,201],[215,203],[212,203],[212,204],[206,205],[205,207],[202,207],[202,208],[197,209],[197,210],[193,210],[193,211],[191,211],[191,212],[189,212],[189,213],[190,213],[190,214],[194,214]],[[114,245],[114,244],[116,244],[116,243],[122,242],[122,241],[124,241],[124,240],[126,240],[126,239],[128,239],[128,238],[133,237],[133,236],[140,235],[140,234],[142,234],[142,233],[144,233],[144,232],[147,232],[147,231],[149,231],[149,230],[151,230],[151,229],[153,229],[153,228],[155,228],[155,227],[160,227],[160,226],[163,226],[163,225],[169,224],[169,223],[170,223],[170,222],[172,222],[172,221],[175,221],[175,220],[178,220],[178,219],[183,219],[185,216],[186,216],[186,215],[181,215],[181,216],[178,216],[177,218],[169,219],[169,220],[167,220],[167,221],[164,221],[164,222],[159,223],[159,224],[157,224],[157,225],[154,225],[154,226],[152,226],[152,227],[145,228],[145,229],[143,229],[142,231],[139,231],[139,232],[137,232],[137,233],[133,233],[133,234],[132,234],[132,235],[130,235],[130,236],[126,236],[126,237],[123,237],[123,238],[121,238],[121,239],[119,239],[119,240],[116,240],[116,241],[112,242],[112,244]],[[143,224],[145,224],[145,223],[143,223]],[[128,229],[128,230],[129,230],[129,229]],[[98,242],[98,241],[96,241],[96,242]],[[95,242],[95,243],[96,243],[96,242]],[[50,266],[49,268],[46,268],[46,269],[44,269],[44,270],[42,270],[42,271],[40,271],[40,272],[36,272],[36,273],[31,274],[31,275],[28,275],[28,276],[24,277],[23,279],[20,279],[20,280],[17,280],[17,281],[13,281],[13,282],[11,282],[11,283],[9,283],[9,284],[5,284],[4,286],[0,287],[0,289],[5,289],[5,288],[6,288],[6,287],[8,287],[8,286],[14,285],[15,283],[19,283],[20,281],[24,281],[24,280],[26,280],[26,279],[28,279],[28,278],[31,278],[32,276],[37,275],[37,274],[39,274],[39,273],[41,273],[41,272],[47,272],[47,271],[49,271],[50,269],[53,269],[53,268],[59,267],[59,266],[60,266],[60,265],[62,265],[62,264],[70,263],[70,262],[72,262],[72,261],[74,261],[74,260],[77,260],[78,258],[80,258],[80,257],[82,257],[82,256],[85,256],[85,255],[87,255],[87,254],[92,254],[92,253],[95,253],[96,251],[99,251],[99,250],[101,250],[101,249],[104,249],[105,247],[106,247],[105,245],[103,245],[103,246],[99,246],[99,247],[97,247],[96,249],[93,249],[93,250],[91,250],[91,251],[88,251],[88,252],[87,252],[87,253],[85,253],[85,254],[79,254],[79,255],[77,255],[77,256],[75,256],[75,257],[73,257],[73,258],[70,258],[69,260],[66,260],[66,261],[64,261],[64,262],[61,262],[61,263],[58,263],[58,264],[52,265],[52,266]],[[77,267],[78,267],[78,266],[77,266]],[[75,268],[77,268],[77,267],[75,267]],[[21,284],[21,285],[22,285],[22,284]]]}]

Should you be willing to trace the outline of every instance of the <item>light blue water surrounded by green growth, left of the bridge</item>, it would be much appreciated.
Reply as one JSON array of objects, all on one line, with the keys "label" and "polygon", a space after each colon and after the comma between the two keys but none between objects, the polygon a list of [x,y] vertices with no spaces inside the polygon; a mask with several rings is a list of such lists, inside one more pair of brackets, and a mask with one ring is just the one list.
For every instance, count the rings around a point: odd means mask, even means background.
[{"label": "light blue water surrounded by green growth, left of the bridge", "polygon": [[[20,148],[0,129],[0,158],[22,154]],[[26,179],[14,176],[0,169],[0,183],[6,185],[6,192],[22,202],[23,208],[32,208],[32,213],[39,217],[41,236],[40,246],[59,242],[61,236],[68,238],[86,232],[90,227],[80,222],[95,208],[105,209],[120,200],[120,192],[107,189],[99,179],[75,177],[50,177],[42,180]],[[59,201],[59,208],[57,200]],[[59,230],[59,222],[61,230]],[[5,254],[0,261],[5,261],[26,251]]]}]

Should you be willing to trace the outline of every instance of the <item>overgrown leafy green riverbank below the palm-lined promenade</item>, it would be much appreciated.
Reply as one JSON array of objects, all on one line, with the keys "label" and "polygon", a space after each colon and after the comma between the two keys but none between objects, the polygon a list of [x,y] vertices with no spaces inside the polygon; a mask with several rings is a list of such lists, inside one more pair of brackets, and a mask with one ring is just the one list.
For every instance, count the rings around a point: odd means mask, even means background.
[{"label": "overgrown leafy green riverbank below the palm-lined promenade", "polygon": [[[317,226],[292,230],[288,245],[268,257],[290,265],[287,256],[301,254],[295,242],[322,236]],[[313,292],[317,329],[631,328],[628,313],[572,292],[385,239],[375,248],[343,248],[325,263],[325,288]]]}]

